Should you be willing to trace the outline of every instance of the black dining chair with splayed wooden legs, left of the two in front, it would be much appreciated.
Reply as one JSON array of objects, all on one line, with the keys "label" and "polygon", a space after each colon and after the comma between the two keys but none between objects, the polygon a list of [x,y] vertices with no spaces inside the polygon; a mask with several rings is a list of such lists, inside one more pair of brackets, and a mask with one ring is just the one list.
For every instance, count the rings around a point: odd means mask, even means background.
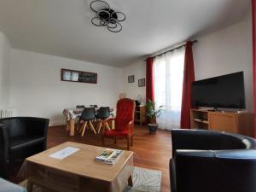
[{"label": "black dining chair with splayed wooden legs, left of the two in front", "polygon": [[[77,125],[77,130],[80,131],[81,136],[84,136],[84,131],[86,130],[87,125],[89,124],[90,130],[93,131],[96,134],[96,130],[94,126],[92,125],[91,121],[95,119],[95,109],[94,108],[84,108],[83,112],[81,113],[81,116],[79,117],[79,122]],[[83,127],[79,129],[79,125],[81,121],[84,121]]]}]

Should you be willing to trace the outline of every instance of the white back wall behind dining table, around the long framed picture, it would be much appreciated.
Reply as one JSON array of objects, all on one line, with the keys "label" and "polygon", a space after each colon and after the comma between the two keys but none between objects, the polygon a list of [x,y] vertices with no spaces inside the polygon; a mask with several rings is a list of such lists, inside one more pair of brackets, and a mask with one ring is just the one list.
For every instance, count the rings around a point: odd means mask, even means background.
[{"label": "white back wall behind dining table, around the long framed picture", "polygon": [[[98,73],[97,84],[61,81],[61,68]],[[10,67],[10,107],[22,116],[65,124],[62,110],[77,104],[115,107],[123,90],[123,69],[13,49]]]}]

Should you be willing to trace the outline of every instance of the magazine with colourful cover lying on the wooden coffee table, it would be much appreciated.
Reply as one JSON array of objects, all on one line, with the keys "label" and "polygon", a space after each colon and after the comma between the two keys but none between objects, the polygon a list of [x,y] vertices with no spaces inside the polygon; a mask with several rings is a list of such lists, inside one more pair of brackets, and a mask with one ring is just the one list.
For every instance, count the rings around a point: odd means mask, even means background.
[{"label": "magazine with colourful cover lying on the wooden coffee table", "polygon": [[96,156],[96,161],[101,161],[106,164],[114,164],[119,159],[122,152],[122,150],[107,148],[102,151],[101,154]]}]

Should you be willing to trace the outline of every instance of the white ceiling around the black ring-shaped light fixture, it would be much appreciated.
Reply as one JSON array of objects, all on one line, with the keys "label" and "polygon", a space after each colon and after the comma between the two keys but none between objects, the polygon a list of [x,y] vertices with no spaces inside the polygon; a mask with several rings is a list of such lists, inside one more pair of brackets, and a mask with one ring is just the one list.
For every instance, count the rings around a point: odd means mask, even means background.
[{"label": "white ceiling around the black ring-shaped light fixture", "polygon": [[0,0],[0,31],[12,46],[124,66],[172,44],[241,20],[250,0],[106,0],[123,31],[93,26],[92,0]]}]

